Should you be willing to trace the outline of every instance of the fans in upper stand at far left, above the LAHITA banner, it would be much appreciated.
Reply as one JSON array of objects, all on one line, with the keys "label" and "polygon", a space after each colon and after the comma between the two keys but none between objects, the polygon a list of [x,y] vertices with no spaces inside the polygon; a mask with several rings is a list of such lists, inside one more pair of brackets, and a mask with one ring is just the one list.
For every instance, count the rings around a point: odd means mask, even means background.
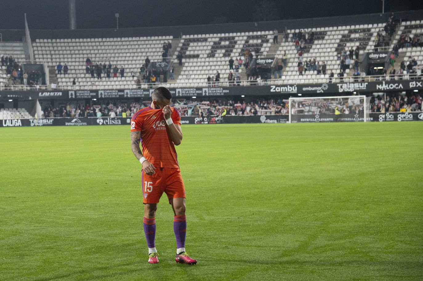
[{"label": "fans in upper stand at far left, above the LAHITA banner", "polygon": [[13,56],[2,55],[1,66],[6,68],[5,71],[8,77],[5,83],[6,88],[12,85],[28,85],[31,87],[40,85],[41,73],[36,70],[24,72],[22,65]]}]

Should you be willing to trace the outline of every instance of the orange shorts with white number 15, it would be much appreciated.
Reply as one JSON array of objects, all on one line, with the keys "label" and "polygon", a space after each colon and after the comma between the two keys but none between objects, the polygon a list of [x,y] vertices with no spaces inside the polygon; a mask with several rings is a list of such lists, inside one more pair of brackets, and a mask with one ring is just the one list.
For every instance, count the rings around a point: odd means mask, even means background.
[{"label": "orange shorts with white number 15", "polygon": [[155,172],[150,176],[141,171],[144,204],[159,203],[163,192],[168,196],[169,203],[171,198],[187,198],[179,168],[157,168]]}]

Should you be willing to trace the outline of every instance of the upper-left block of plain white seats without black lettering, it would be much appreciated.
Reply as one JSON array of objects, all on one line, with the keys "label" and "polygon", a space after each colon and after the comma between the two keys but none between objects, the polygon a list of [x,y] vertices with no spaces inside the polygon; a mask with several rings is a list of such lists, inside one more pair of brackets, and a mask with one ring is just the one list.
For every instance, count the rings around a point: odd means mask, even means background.
[{"label": "upper-left block of plain white seats without black lettering", "polygon": [[[65,63],[69,67],[68,76],[58,74],[58,86],[72,87],[73,79],[78,88],[91,86],[93,89],[134,88],[135,78],[129,76],[131,71],[138,75],[144,60],[162,61],[162,44],[172,36],[126,37],[126,38],[84,38],[84,39],[37,39],[33,44],[37,61],[55,67]],[[85,72],[85,60],[93,63],[111,63],[118,68],[124,66],[125,76],[110,80],[102,74],[101,79],[92,78]]]}]

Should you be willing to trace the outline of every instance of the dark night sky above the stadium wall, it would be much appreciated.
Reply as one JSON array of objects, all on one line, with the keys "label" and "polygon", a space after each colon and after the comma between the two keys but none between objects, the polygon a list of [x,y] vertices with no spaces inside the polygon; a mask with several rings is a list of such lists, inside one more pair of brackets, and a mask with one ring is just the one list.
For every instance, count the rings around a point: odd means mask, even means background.
[{"label": "dark night sky above the stadium wall", "polygon": [[[251,22],[257,0],[77,0],[77,28],[200,25],[225,17],[227,22]],[[280,19],[301,19],[382,12],[381,0],[275,0]],[[422,0],[386,0],[385,12],[423,9]],[[69,28],[68,0],[0,1],[0,29]]]}]

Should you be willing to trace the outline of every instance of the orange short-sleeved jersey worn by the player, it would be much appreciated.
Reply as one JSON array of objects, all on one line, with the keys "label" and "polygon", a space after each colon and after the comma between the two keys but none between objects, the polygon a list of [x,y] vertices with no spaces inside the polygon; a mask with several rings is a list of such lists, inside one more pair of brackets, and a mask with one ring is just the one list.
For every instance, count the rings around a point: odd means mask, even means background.
[{"label": "orange short-sleeved jersey worn by the player", "polygon": [[[171,108],[170,117],[175,125],[181,125],[178,109]],[[138,110],[131,120],[131,132],[140,131],[143,156],[156,168],[178,168],[178,155],[167,131],[162,109],[150,106]]]}]

